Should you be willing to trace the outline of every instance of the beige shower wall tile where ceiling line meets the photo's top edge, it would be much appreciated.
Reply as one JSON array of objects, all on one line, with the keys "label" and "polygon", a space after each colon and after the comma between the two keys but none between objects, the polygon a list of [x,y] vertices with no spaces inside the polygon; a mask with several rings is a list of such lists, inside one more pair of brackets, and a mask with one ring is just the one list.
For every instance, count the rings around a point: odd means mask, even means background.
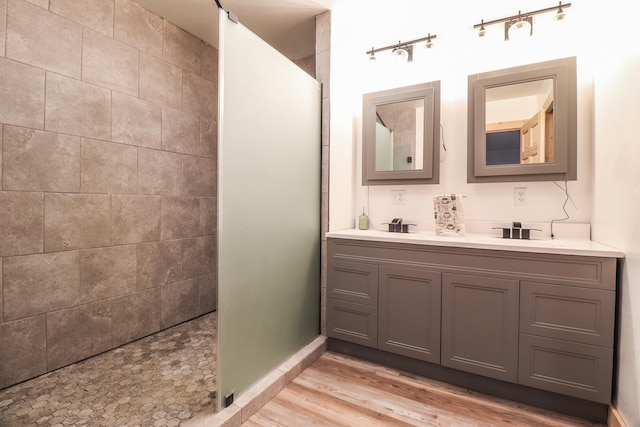
[{"label": "beige shower wall tile where ceiling line meets the photo's top edge", "polygon": [[114,37],[157,58],[162,57],[163,20],[131,0],[116,0]]}]

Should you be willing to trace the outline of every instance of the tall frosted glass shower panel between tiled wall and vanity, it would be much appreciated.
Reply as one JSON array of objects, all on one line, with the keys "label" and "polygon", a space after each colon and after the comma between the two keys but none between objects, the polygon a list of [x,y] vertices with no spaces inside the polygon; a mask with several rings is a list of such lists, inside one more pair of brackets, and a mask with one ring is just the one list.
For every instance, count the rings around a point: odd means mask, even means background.
[{"label": "tall frosted glass shower panel between tiled wall and vanity", "polygon": [[219,401],[319,334],[320,84],[220,18]]}]

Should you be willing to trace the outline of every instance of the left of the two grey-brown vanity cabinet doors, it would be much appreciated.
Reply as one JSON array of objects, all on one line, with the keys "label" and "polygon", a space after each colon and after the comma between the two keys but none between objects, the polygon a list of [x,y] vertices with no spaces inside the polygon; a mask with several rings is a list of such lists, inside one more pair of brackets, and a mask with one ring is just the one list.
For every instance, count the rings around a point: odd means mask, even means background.
[{"label": "left of the two grey-brown vanity cabinet doors", "polygon": [[440,363],[441,274],[380,266],[378,348]]}]

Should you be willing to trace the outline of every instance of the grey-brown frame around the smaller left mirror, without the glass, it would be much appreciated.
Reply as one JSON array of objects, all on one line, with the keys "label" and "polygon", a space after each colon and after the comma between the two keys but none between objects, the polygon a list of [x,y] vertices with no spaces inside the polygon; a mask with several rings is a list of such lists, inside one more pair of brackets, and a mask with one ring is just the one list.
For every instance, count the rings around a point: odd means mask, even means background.
[{"label": "grey-brown frame around the smaller left mirror, without the glass", "polygon": [[[415,99],[424,100],[422,169],[375,170],[376,106]],[[362,185],[438,184],[440,181],[440,81],[371,92],[363,95]]]}]

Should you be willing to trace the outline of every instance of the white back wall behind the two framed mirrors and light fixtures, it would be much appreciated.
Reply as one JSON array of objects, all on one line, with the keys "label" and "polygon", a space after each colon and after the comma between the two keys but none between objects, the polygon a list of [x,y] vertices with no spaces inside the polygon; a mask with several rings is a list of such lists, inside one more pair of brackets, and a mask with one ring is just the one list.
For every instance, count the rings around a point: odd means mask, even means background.
[{"label": "white back wall behind the two framed mirrors and light fixtures", "polygon": [[[518,12],[539,9],[539,1],[455,2],[400,0],[367,2],[365,10],[343,6],[332,13],[331,56],[331,196],[330,228],[352,228],[366,207],[370,217],[429,221],[433,216],[432,197],[440,193],[462,193],[468,220],[548,222],[564,217],[564,193],[551,182],[467,184],[467,76],[483,71],[578,56],[578,181],[569,182],[572,204],[571,221],[591,220],[591,108],[592,77],[590,67],[581,61],[583,44],[558,42],[579,28],[579,5],[572,6],[570,19],[553,21],[553,13],[535,18],[530,42],[514,44],[502,38],[503,27],[488,28],[484,39],[477,36],[473,24]],[[434,5],[429,7],[429,5]],[[384,67],[383,54],[371,67],[365,52],[381,47],[437,34],[434,48],[414,49],[414,62]],[[570,40],[575,40],[571,36]],[[396,64],[393,64],[396,65]],[[441,149],[440,184],[411,186],[362,186],[361,118],[362,94],[432,80],[441,81],[441,117],[446,151]],[[528,206],[514,206],[514,187],[527,187]],[[406,191],[405,205],[391,204],[391,190]],[[374,223],[375,225],[375,223]]]}]

